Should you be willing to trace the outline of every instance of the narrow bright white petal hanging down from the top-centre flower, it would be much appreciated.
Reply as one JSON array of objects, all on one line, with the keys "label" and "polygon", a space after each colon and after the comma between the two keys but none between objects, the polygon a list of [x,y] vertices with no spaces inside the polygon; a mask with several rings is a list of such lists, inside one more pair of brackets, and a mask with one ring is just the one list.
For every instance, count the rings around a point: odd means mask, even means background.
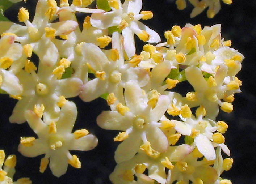
[{"label": "narrow bright white petal hanging down from the top-centre flower", "polygon": [[134,43],[134,34],[129,27],[126,27],[122,30],[123,35],[123,46],[126,52],[126,55],[131,58],[135,54],[135,43]]}]

